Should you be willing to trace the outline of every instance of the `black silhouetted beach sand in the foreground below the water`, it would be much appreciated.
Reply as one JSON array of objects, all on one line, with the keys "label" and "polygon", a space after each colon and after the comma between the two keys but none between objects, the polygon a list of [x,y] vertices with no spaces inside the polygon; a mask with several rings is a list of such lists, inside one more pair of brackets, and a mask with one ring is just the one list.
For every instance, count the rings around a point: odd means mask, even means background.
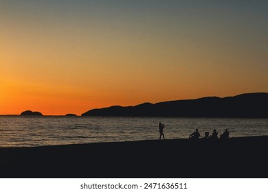
[{"label": "black silhouetted beach sand in the foreground below the water", "polygon": [[268,136],[0,148],[1,178],[268,178]]}]

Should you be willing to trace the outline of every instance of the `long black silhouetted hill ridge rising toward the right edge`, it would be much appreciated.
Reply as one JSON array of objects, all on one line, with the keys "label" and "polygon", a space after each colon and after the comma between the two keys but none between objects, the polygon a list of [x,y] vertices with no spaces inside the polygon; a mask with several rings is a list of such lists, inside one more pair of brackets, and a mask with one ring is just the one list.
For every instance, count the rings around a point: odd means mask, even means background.
[{"label": "long black silhouetted hill ridge rising toward the right edge", "polygon": [[111,106],[89,110],[82,116],[268,118],[268,93],[245,93],[224,98],[203,97],[126,107]]}]

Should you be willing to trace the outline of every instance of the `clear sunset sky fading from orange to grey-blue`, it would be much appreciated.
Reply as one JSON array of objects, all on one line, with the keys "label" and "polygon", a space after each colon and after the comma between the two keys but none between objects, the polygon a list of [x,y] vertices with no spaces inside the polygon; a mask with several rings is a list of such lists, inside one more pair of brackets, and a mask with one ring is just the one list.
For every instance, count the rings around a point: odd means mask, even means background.
[{"label": "clear sunset sky fading from orange to grey-blue", "polygon": [[1,0],[0,115],[268,92],[268,1]]}]

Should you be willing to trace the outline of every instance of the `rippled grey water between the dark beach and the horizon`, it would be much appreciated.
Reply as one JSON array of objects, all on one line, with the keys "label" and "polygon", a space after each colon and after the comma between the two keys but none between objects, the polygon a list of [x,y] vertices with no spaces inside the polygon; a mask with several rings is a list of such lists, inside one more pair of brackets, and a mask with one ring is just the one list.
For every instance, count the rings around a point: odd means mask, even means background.
[{"label": "rippled grey water between the dark beach and the horizon", "polygon": [[226,128],[230,137],[268,135],[268,119],[0,116],[0,147],[155,140],[159,122],[166,139],[188,138],[196,128],[202,136]]}]

